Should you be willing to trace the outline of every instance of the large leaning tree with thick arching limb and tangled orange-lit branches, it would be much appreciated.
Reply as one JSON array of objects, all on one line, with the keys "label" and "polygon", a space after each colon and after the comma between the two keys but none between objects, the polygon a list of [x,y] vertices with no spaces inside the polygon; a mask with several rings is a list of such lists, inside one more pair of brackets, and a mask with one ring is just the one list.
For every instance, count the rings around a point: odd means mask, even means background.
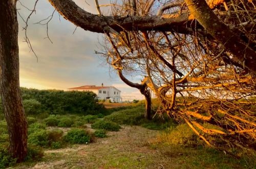
[{"label": "large leaning tree with thick arching limb and tangled orange-lit branches", "polygon": [[103,55],[119,76],[139,69],[168,115],[209,146],[253,148],[255,118],[237,102],[255,93],[253,2],[161,1],[158,8],[154,0],[123,1],[110,16],[70,0],[49,2],[76,26],[105,33],[112,47]]}]

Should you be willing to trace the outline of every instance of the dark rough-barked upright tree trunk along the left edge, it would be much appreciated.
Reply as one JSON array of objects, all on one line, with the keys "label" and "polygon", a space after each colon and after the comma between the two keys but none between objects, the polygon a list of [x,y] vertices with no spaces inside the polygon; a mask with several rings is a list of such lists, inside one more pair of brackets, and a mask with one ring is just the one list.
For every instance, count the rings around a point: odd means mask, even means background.
[{"label": "dark rough-barked upright tree trunk along the left edge", "polygon": [[0,1],[0,90],[8,125],[9,151],[17,161],[27,155],[27,121],[19,88],[16,1]]}]

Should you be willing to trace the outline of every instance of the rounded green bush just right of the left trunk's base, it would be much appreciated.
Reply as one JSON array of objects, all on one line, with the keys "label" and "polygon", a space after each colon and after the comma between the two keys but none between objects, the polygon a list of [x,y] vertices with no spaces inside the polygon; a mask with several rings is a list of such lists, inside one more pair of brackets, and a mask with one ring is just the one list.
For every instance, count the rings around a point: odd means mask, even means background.
[{"label": "rounded green bush just right of the left trunk's base", "polygon": [[48,132],[44,129],[37,129],[33,133],[29,134],[28,142],[35,146],[49,147],[50,141]]}]

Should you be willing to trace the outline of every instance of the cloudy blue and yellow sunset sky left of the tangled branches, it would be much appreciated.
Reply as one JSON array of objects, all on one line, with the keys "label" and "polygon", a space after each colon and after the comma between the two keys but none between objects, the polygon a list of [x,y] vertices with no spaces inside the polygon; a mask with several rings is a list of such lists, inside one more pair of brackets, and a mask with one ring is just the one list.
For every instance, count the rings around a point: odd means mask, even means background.
[{"label": "cloudy blue and yellow sunset sky left of the tangled branches", "polygon": [[[34,0],[20,0],[29,9],[34,8]],[[94,0],[74,1],[84,10],[96,14]],[[100,4],[109,1],[101,0]],[[89,5],[90,6],[89,6]],[[27,36],[37,55],[31,52],[24,42],[25,22],[30,11],[17,2],[20,14],[19,22],[19,59],[20,59],[20,86],[37,89],[61,89],[82,85],[115,86],[121,90],[123,99],[143,99],[138,89],[124,84],[114,70],[106,64],[100,55],[103,44],[103,34],[76,29],[73,23],[63,19],[55,11],[48,25],[48,34],[53,43],[46,38],[47,26],[35,24],[52,15],[54,8],[47,0],[39,0],[36,5],[36,14],[28,21]],[[104,11],[104,9],[102,9]],[[22,19],[23,18],[23,19]],[[41,23],[46,23],[42,21]],[[74,30],[76,31],[74,32]],[[73,34],[74,32],[74,34]],[[140,83],[139,79],[130,77],[133,82]]]}]

